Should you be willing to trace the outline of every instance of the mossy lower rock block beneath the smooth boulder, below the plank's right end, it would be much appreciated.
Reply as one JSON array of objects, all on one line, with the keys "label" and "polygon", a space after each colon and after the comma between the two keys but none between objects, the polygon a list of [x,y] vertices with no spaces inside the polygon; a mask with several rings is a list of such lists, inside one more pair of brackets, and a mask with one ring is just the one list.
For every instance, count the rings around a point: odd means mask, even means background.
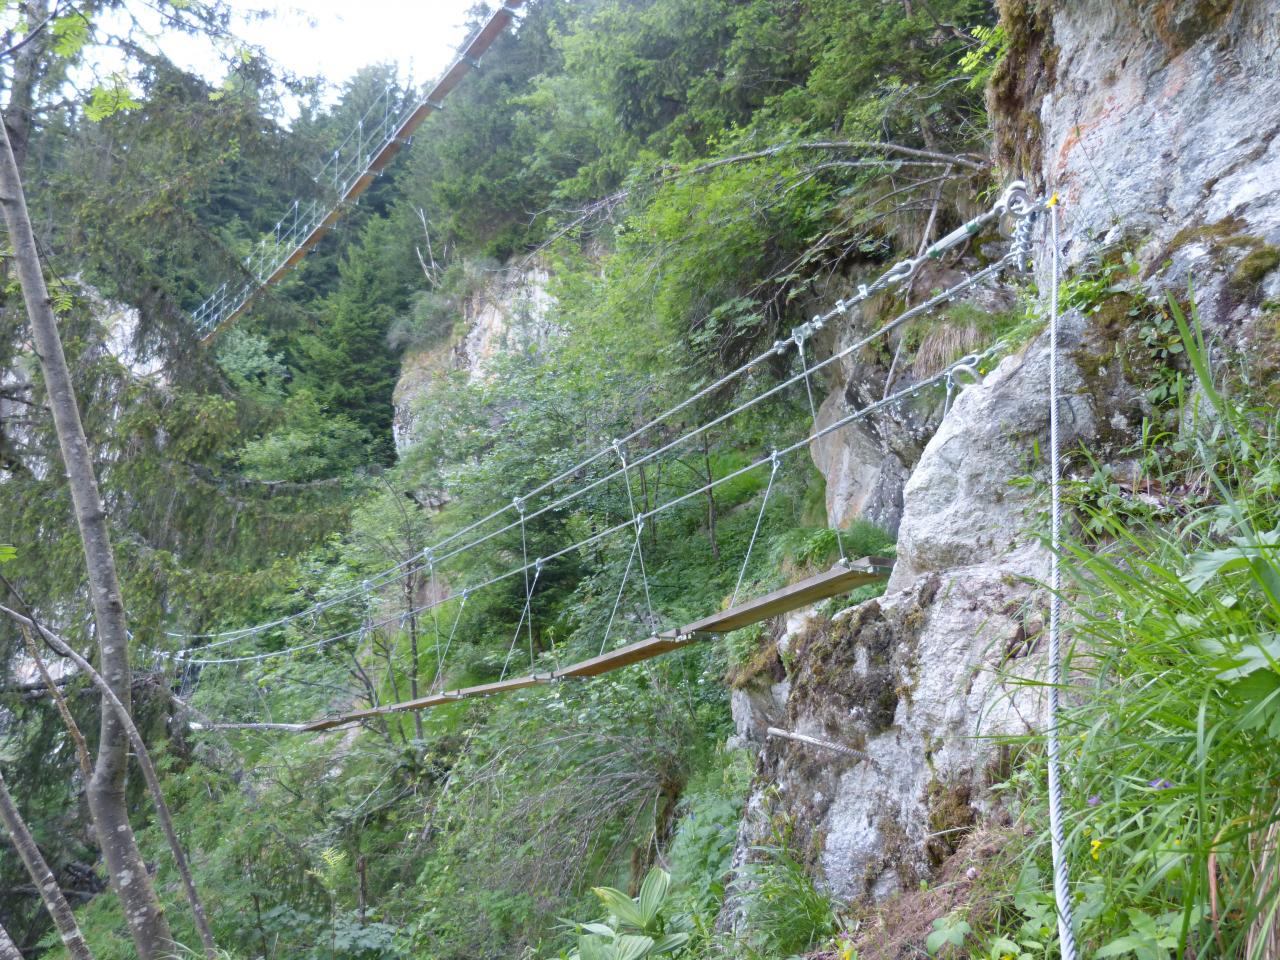
[{"label": "mossy lower rock block beneath the smooth boulder, below the plank's right end", "polygon": [[[785,726],[868,759],[769,739],[759,767],[769,788],[748,804],[739,869],[785,814],[833,896],[882,899],[928,878],[988,806],[998,750],[979,737],[1041,722],[1036,689],[1007,684],[1039,669],[1041,608],[1014,571],[991,564],[929,573],[814,620],[794,640]],[[740,923],[740,911],[731,900],[722,922]]]}]

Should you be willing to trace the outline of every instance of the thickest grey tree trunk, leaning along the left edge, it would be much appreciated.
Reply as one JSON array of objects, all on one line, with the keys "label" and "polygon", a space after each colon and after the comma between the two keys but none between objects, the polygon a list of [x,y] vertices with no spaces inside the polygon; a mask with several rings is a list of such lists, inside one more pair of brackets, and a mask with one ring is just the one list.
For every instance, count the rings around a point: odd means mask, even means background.
[{"label": "thickest grey tree trunk, leaning along the left edge", "polygon": [[[9,227],[13,261],[22,284],[27,315],[31,319],[36,355],[45,375],[49,406],[67,467],[76,522],[84,545],[90,599],[97,625],[99,662],[102,666],[102,676],[128,712],[131,699],[128,634],[124,602],[115,573],[115,556],[108,535],[106,512],[97,490],[97,479],[93,476],[93,460],[84,438],[76,393],[72,389],[72,376],[67,367],[52,303],[45,287],[36,237],[31,230],[27,200],[22,191],[22,178],[4,123],[0,123],[0,137],[4,138],[0,146],[0,205],[4,206],[5,223]],[[140,960],[159,960],[172,952],[174,943],[169,922],[165,919],[129,826],[124,795],[128,739],[115,709],[106,698],[102,698],[101,717],[97,763],[87,786],[88,808],[106,858],[111,886],[120,897]]]}]

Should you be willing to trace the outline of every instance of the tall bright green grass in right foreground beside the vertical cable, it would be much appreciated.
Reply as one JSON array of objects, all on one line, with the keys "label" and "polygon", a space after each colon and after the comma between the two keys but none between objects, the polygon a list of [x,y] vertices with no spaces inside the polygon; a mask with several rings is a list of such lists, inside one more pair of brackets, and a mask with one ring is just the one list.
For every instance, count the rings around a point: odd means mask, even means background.
[{"label": "tall bright green grass in right foreground beside the vertical cable", "polygon": [[[1280,956],[1280,417],[1188,375],[1120,497],[1074,492],[1064,548],[1068,856],[1082,956]],[[1126,507],[1125,504],[1129,504]],[[1043,817],[1042,756],[1018,791]],[[972,955],[1055,956],[1047,826]]]}]

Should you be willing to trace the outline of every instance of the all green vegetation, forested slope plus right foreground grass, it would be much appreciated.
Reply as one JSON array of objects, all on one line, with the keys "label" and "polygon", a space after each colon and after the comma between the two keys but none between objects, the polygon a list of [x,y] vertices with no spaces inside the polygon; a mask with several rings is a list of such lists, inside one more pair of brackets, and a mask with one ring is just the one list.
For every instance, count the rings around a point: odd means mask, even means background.
[{"label": "all green vegetation, forested slope plus right foreground grass", "polygon": [[[1029,5],[1002,6],[1009,19]],[[35,82],[10,70],[5,118],[115,548],[132,716],[219,948],[246,960],[851,960],[860,929],[865,954],[876,915],[820,891],[786,818],[753,851],[741,888],[726,888],[753,776],[748,753],[726,746],[730,696],[782,668],[769,630],[593,684],[326,736],[209,718],[294,721],[495,680],[513,628],[531,666],[590,657],[611,631],[648,635],[654,609],[687,622],[724,605],[748,544],[741,576],[756,591],[826,568],[841,547],[891,552],[869,524],[837,541],[808,461],[776,480],[755,471],[703,489],[806,436],[814,412],[791,390],[708,431],[675,465],[602,483],[449,570],[481,581],[625,521],[634,500],[687,498],[636,532],[643,590],[627,580],[630,541],[593,544],[545,577],[539,568],[536,602],[512,579],[421,612],[452,585],[412,566],[424,544],[625,436],[984,207],[997,174],[983,86],[1014,96],[1001,58],[1047,56],[1043,31],[1028,40],[997,27],[983,0],[538,0],[340,229],[201,347],[188,311],[238,275],[274,218],[311,189],[315,160],[398,81],[367,68],[328,106],[237,49],[212,88],[127,37],[128,78],[67,96],[67,77],[105,40],[73,20],[99,8],[55,8],[49,22],[67,26],[47,33],[36,29],[47,5],[9,12],[29,22],[31,41],[10,56],[23,54]],[[216,5],[184,0],[173,13],[225,40]],[[20,36],[18,24],[10,40]],[[303,105],[285,125],[287,95]],[[1240,266],[1249,296],[1276,265],[1274,248],[1254,247]],[[532,268],[550,276],[547,315],[508,332],[483,371],[452,362],[468,310]],[[1137,339],[1112,346],[1135,351],[1161,412],[1132,453],[1156,490],[1149,508],[1126,512],[1133,498],[1115,497],[1105,466],[1085,457],[1088,479],[1073,490],[1074,602],[1092,641],[1074,666],[1106,691],[1074,709],[1069,731],[1082,937],[1098,956],[1239,955],[1274,909],[1258,891],[1276,886],[1274,411],[1216,392],[1220,380],[1188,365],[1204,348],[1179,332],[1176,310],[1129,293],[1121,303],[1110,270],[1078,279],[1068,302],[1105,301],[1140,321]],[[901,303],[883,300],[883,310]],[[0,544],[12,544],[0,547],[0,603],[88,654],[101,630],[15,282],[0,306]],[[1038,321],[1034,310],[956,307],[913,334],[929,362],[910,376],[975,337],[1021,338]],[[397,379],[428,356],[431,375],[401,399],[415,415],[397,449]],[[855,360],[897,369],[891,353]],[[791,372],[780,360],[753,376]],[[659,439],[704,422],[731,393],[691,406]],[[406,572],[349,599],[392,564]],[[269,621],[214,649],[302,649],[204,667],[164,655],[192,635],[198,646]],[[88,948],[125,960],[140,937],[105,892],[72,732],[96,744],[109,714],[83,673],[58,685],[61,701],[14,676],[29,650],[17,622],[0,622],[0,767]],[[1010,746],[1018,762],[998,788],[1016,824],[1038,824],[1038,744]],[[161,823],[137,777],[128,790],[168,924],[195,948]],[[1002,844],[987,896],[948,900],[929,952],[1052,951],[1043,844],[1018,828]],[[0,850],[0,925],[26,956],[60,957],[35,892]],[[727,900],[740,901],[739,929],[722,916]]]}]

